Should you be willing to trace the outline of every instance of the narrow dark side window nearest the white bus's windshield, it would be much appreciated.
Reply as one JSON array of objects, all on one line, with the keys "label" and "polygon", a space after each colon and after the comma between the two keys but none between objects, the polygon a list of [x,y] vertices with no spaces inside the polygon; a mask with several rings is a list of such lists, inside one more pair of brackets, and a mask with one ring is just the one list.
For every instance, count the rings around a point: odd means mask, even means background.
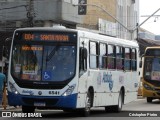
[{"label": "narrow dark side window nearest the white bus's windshield", "polygon": [[79,54],[79,75],[82,76],[83,73],[87,71],[87,49],[80,48]]}]

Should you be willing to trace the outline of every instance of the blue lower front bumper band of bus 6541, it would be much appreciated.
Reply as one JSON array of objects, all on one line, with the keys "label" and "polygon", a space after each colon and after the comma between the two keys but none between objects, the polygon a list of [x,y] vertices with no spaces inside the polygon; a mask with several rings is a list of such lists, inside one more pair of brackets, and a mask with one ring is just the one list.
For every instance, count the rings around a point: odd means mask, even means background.
[{"label": "blue lower front bumper band of bus 6541", "polygon": [[[28,101],[28,102],[26,102]],[[55,104],[54,101],[57,100]],[[26,95],[20,95],[20,94],[14,94],[11,92],[8,92],[8,104],[10,106],[33,106],[34,102],[32,101],[51,101],[48,103],[45,107],[57,107],[57,108],[71,108],[75,109],[77,104],[77,94],[72,94],[69,96],[57,96],[57,97],[50,97],[50,96],[26,96]]]}]

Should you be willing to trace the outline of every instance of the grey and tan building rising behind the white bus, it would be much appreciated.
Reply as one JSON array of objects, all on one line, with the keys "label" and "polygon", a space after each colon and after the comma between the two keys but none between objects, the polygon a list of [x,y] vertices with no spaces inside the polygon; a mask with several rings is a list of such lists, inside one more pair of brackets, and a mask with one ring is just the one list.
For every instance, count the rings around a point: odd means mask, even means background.
[{"label": "grey and tan building rising behind the white bus", "polygon": [[[87,6],[74,6],[80,3]],[[136,31],[133,32],[132,29],[139,22],[138,16],[138,0],[1,0],[0,46],[3,46],[6,38],[12,37],[10,33],[16,28],[53,24],[92,29],[118,38],[136,39]]]}]

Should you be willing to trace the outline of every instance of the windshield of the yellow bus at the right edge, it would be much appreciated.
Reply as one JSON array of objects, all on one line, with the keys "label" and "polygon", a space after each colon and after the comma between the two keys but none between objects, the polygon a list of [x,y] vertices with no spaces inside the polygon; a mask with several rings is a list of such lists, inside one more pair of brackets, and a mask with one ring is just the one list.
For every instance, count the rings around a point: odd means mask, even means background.
[{"label": "windshield of the yellow bus at the right edge", "polygon": [[148,80],[160,81],[160,58],[146,57],[144,63],[144,77]]}]

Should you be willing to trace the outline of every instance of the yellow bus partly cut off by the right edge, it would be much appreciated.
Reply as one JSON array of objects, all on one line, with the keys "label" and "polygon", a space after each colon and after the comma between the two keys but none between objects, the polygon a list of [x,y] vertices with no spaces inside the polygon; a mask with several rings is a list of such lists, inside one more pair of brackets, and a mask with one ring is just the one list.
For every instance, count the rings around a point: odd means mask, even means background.
[{"label": "yellow bus partly cut off by the right edge", "polygon": [[142,96],[148,103],[160,99],[160,47],[147,47],[142,55]]}]

